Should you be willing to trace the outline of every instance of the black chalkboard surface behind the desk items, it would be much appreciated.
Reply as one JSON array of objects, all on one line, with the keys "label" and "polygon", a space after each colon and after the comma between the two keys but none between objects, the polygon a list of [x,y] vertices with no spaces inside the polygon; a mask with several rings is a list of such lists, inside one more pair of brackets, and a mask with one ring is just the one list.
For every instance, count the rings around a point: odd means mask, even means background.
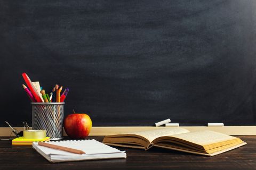
[{"label": "black chalkboard surface behind the desk items", "polygon": [[0,126],[31,125],[21,73],[94,126],[255,125],[256,1],[0,1]]}]

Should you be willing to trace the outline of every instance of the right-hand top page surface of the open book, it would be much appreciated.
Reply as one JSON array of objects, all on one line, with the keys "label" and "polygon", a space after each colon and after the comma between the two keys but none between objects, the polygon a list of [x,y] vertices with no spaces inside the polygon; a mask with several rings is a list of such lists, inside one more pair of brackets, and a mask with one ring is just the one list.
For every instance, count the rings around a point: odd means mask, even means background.
[{"label": "right-hand top page surface of the open book", "polygon": [[196,132],[190,132],[186,134],[175,134],[170,136],[183,139],[189,142],[193,142],[201,146],[210,145],[212,143],[217,143],[221,141],[237,139],[235,137],[231,137],[230,135],[222,134],[214,131],[196,131]]}]

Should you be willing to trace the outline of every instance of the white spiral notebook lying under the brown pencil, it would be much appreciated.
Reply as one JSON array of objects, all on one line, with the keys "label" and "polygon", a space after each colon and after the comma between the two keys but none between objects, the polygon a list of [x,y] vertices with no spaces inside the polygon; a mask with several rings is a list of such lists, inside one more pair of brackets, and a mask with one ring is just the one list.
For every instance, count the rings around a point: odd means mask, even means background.
[{"label": "white spiral notebook lying under the brown pencil", "polygon": [[92,159],[113,159],[126,158],[125,151],[107,146],[97,140],[65,140],[46,141],[54,145],[83,150],[86,154],[73,154],[71,152],[39,146],[38,142],[33,142],[33,148],[51,163],[71,162]]}]

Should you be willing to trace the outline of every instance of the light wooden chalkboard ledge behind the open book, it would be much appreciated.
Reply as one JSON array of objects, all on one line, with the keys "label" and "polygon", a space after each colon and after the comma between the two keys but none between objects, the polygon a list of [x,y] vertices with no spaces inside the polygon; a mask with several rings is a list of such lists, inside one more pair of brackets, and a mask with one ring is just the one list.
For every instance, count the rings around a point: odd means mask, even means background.
[{"label": "light wooden chalkboard ledge behind the open book", "polygon": [[[119,134],[119,133],[129,133],[136,131],[146,131],[146,130],[154,130],[166,128],[164,126],[161,127],[153,127],[153,126],[116,126],[116,127],[92,127],[90,136],[105,136],[110,134]],[[225,133],[229,135],[256,135],[256,126],[223,126],[223,127],[207,127],[207,126],[180,126],[179,128],[185,128],[191,132],[198,130],[211,130],[220,133]],[[23,128],[18,127],[15,128],[18,131],[22,131]],[[0,128],[0,136],[1,137],[9,137],[11,134],[10,128]],[[12,133],[12,136],[14,134]],[[64,135],[66,136],[66,132],[64,131]]]}]

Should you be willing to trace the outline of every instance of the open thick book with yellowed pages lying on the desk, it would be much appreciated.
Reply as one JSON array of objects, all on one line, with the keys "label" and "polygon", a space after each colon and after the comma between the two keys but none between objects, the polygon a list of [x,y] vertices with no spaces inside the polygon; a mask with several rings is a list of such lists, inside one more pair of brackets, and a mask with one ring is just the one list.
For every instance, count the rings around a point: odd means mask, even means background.
[{"label": "open thick book with yellowed pages lying on the desk", "polygon": [[183,128],[165,128],[129,134],[107,135],[103,143],[140,148],[161,147],[205,156],[214,156],[246,143],[239,138],[213,131],[189,132]]}]

